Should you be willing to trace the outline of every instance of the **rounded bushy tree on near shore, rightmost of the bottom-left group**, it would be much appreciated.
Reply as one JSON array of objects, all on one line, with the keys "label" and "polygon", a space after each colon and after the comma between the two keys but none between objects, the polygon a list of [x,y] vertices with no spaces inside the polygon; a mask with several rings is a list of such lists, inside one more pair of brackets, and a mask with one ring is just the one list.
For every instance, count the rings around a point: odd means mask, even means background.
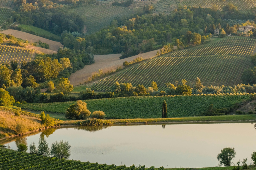
[{"label": "rounded bushy tree on near shore, rightmost of the bottom-left group", "polygon": [[71,145],[68,143],[68,141],[56,141],[52,144],[51,155],[58,159],[67,159],[70,156],[70,148]]}]

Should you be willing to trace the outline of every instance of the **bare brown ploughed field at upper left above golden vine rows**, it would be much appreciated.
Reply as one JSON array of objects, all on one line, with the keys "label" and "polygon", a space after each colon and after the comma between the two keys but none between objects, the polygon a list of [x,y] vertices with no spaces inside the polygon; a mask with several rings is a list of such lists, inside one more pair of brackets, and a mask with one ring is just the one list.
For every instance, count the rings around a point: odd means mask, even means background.
[{"label": "bare brown ploughed field at upper left above golden vine rows", "polygon": [[[40,40],[41,42],[45,42],[45,43],[49,44],[50,50],[53,50],[53,51],[56,51],[56,52],[58,51],[60,46],[63,47],[63,45],[60,42],[48,40],[48,39],[45,39],[45,38],[42,38],[42,37],[39,37],[39,36],[35,36],[33,34],[25,33],[25,32],[22,32],[22,31],[9,29],[9,30],[2,31],[1,33],[7,34],[7,35],[8,34],[13,35],[14,37],[17,37],[19,39],[28,40],[30,43],[38,42]],[[39,49],[36,49],[36,50],[39,50]]]}]

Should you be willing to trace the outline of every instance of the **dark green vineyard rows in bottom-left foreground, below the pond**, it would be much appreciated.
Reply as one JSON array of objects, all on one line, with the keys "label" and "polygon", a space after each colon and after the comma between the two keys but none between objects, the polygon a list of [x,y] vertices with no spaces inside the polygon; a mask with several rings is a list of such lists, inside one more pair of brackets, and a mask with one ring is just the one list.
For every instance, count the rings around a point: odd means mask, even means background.
[{"label": "dark green vineyard rows in bottom-left foreground, below the pond", "polygon": [[[41,170],[133,170],[135,166],[126,167],[106,164],[80,162],[73,160],[57,159],[52,157],[39,156],[24,152],[0,150],[0,170],[8,169],[41,169]],[[140,168],[137,168],[140,169]],[[154,170],[154,167],[152,168]],[[156,169],[157,170],[157,169]]]}]

